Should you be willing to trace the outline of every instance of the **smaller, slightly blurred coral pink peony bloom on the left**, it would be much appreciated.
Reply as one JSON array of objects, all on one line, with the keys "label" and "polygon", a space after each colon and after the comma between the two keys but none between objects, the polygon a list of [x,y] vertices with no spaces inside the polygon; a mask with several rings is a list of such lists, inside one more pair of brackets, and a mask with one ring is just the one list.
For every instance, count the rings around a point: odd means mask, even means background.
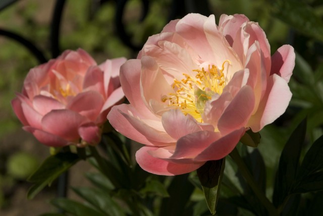
[{"label": "smaller, slightly blurred coral pink peony bloom on the left", "polygon": [[12,100],[23,129],[48,146],[97,144],[111,106],[124,97],[119,72],[125,61],[97,66],[78,49],[31,69]]}]

